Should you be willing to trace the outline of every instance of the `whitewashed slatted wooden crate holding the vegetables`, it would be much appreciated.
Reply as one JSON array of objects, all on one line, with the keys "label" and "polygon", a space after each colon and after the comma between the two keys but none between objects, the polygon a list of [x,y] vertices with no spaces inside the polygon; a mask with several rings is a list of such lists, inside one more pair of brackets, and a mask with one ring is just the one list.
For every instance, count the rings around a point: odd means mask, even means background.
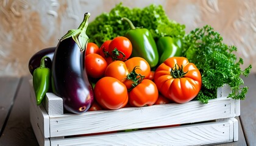
[{"label": "whitewashed slatted wooden crate holding the vegetables", "polygon": [[[62,98],[46,94],[37,106],[30,82],[30,122],[40,145],[211,145],[238,141],[240,100],[227,98],[229,86],[218,89],[208,104],[198,101],[142,108],[63,114]],[[182,124],[178,127],[162,127]],[[140,129],[130,132],[77,136]],[[141,130],[145,128],[151,128]]]}]

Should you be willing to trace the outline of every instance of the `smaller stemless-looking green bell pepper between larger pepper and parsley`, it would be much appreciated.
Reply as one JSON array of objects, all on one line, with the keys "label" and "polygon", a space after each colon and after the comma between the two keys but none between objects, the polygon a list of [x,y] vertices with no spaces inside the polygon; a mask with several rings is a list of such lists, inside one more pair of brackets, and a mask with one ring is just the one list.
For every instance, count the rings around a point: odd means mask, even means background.
[{"label": "smaller stemless-looking green bell pepper between larger pepper and parsley", "polygon": [[157,40],[159,54],[158,64],[163,63],[170,57],[180,57],[182,55],[182,41],[171,36],[162,36]]}]

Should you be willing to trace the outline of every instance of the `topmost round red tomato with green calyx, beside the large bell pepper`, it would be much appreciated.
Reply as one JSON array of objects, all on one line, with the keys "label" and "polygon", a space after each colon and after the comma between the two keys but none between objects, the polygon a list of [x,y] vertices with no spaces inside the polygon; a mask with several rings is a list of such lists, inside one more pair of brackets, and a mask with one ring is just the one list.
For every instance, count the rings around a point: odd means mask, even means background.
[{"label": "topmost round red tomato with green calyx, beside the large bell pepper", "polygon": [[124,36],[117,36],[110,42],[108,53],[113,60],[125,61],[132,55],[132,43]]}]

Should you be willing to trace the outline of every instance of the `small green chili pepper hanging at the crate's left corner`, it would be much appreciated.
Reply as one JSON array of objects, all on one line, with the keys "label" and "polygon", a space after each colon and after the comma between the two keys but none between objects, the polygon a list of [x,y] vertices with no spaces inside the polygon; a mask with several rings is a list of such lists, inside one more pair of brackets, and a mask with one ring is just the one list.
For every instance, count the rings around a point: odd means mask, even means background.
[{"label": "small green chili pepper hanging at the crate's left corner", "polygon": [[46,68],[44,64],[45,58],[48,57],[44,56],[43,58],[41,58],[40,67],[35,69],[35,71],[33,72],[33,86],[35,91],[35,97],[37,99],[37,105],[40,105],[51,84],[51,70],[49,68]]}]

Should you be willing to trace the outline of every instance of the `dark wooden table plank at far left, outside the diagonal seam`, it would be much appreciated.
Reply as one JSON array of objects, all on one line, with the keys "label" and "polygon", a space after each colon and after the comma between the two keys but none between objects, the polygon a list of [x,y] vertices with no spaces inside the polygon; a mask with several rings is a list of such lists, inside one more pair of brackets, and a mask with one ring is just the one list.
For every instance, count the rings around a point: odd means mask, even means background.
[{"label": "dark wooden table plank at far left, outside the diagonal seam", "polygon": [[20,78],[18,77],[0,78],[0,136],[9,117],[9,111],[12,108],[19,82]]}]

